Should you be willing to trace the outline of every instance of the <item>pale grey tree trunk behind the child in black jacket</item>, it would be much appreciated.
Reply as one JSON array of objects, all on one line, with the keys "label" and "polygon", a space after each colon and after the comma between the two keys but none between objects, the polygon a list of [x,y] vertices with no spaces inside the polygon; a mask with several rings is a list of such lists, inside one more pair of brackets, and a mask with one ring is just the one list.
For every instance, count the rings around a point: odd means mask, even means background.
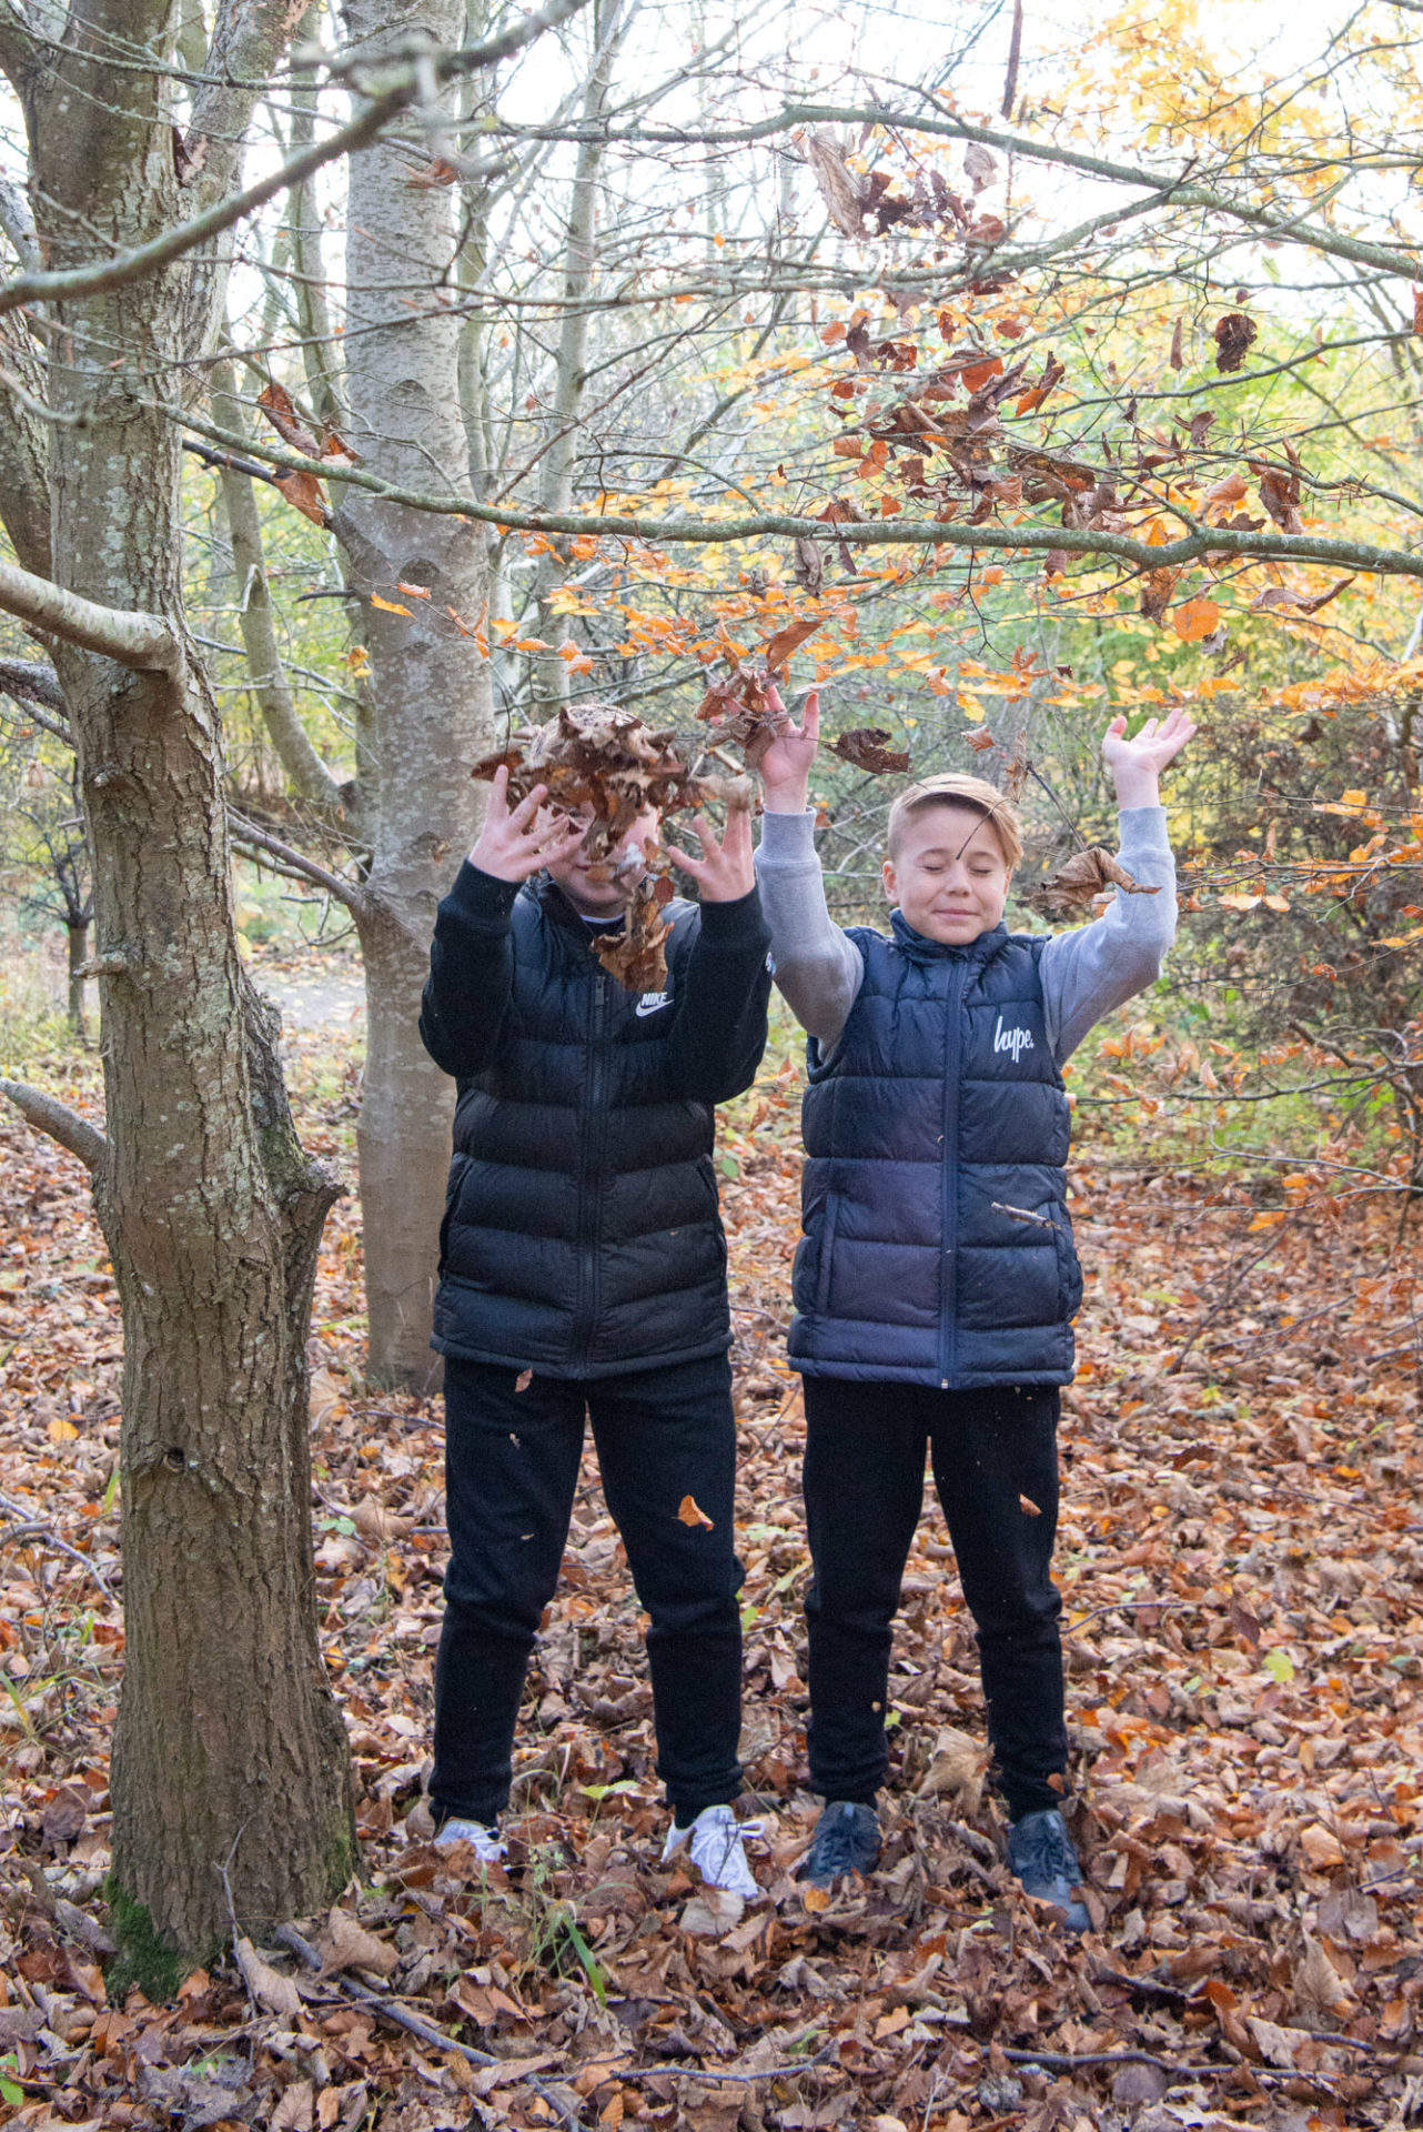
[{"label": "pale grey tree trunk behind the child in black jacket", "polygon": [[[349,49],[428,34],[456,45],[460,0],[351,0]],[[411,122],[418,132],[418,122]],[[471,497],[460,422],[458,322],[449,286],[456,228],[449,190],[411,188],[428,145],[377,143],[349,168],[345,335],[351,443],[388,482]],[[375,821],[366,910],[366,1077],[360,1107],[360,1205],[366,1251],[369,1369],[377,1384],[435,1382],[430,1305],[449,1168],[454,1089],[420,1043],[435,904],[479,821],[471,765],[490,746],[488,663],[471,629],[488,599],[484,533],[351,490],[337,516],[349,582],[390,605],[371,608],[371,791]],[[400,591],[418,586],[430,593]]]}]

